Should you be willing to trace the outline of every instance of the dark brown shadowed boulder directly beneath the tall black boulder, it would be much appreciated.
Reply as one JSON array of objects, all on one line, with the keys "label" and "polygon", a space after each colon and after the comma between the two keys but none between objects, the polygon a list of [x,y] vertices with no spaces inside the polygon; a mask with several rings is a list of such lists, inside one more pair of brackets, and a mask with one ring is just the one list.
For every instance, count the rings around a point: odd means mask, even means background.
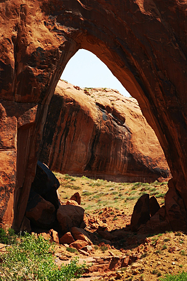
[{"label": "dark brown shadowed boulder directly beneath the tall black boulder", "polygon": [[50,229],[56,219],[55,206],[36,192],[31,191],[25,216],[35,226]]}]

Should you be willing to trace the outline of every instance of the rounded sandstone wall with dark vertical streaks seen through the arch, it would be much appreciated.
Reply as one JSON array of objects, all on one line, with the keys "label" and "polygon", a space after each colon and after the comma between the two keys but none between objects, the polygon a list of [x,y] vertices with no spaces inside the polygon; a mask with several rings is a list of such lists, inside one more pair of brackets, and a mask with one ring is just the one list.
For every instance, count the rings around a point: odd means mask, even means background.
[{"label": "rounded sandstone wall with dark vertical streaks seen through the arch", "polygon": [[52,96],[39,159],[71,175],[130,182],[170,177],[163,150],[135,99],[65,81]]}]

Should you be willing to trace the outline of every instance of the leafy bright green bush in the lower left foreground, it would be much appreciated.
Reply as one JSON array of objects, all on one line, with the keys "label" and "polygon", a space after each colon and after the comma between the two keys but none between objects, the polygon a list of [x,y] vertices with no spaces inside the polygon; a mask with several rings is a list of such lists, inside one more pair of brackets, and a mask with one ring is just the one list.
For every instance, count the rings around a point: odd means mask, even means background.
[{"label": "leafy bright green bush in the lower left foreground", "polygon": [[36,238],[26,233],[20,242],[1,254],[0,281],[70,281],[82,276],[85,263],[78,265],[76,258],[59,269],[52,252],[50,243],[42,236]]}]

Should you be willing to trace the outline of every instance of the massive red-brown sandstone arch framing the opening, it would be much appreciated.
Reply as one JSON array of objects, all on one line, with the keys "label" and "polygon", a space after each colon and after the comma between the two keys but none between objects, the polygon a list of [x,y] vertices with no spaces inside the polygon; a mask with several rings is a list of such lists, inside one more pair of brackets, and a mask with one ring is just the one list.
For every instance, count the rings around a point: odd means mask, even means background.
[{"label": "massive red-brown sandstone arch framing the opening", "polygon": [[165,152],[173,197],[180,194],[187,207],[185,10],[177,0],[1,1],[2,224],[12,223],[14,193],[13,224],[20,227],[48,103],[80,48],[138,100]]}]

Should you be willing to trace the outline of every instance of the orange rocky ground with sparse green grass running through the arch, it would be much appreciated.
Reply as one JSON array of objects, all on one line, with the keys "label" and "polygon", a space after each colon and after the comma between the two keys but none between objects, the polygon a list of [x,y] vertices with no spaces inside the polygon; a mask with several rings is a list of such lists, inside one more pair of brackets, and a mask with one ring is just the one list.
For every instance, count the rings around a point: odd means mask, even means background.
[{"label": "orange rocky ground with sparse green grass running through the arch", "polygon": [[[86,210],[85,230],[93,242],[90,249],[83,253],[72,253],[67,248],[68,245],[56,246],[58,265],[68,263],[73,256],[79,256],[79,263],[86,261],[91,265],[80,281],[158,280],[167,273],[176,274],[187,270],[185,233],[139,233],[129,229],[137,199],[144,193],[149,193],[157,197],[160,205],[164,204],[166,182],[128,184],[92,180],[84,176],[78,178],[67,174],[56,173],[56,176],[61,183],[61,200],[66,202],[78,191],[81,195],[81,206]],[[102,230],[106,227],[109,236],[104,239]]]}]

